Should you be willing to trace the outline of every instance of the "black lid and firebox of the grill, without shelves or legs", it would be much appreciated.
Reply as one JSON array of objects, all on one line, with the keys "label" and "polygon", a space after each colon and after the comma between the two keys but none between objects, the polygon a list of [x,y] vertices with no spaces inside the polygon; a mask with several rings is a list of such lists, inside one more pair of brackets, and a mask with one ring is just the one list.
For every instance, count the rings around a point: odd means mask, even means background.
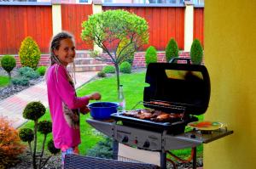
[{"label": "black lid and firebox of the grill, without shelves or legs", "polygon": [[141,120],[124,115],[113,114],[116,121],[126,126],[144,127],[150,130],[178,134],[185,126],[198,119],[193,115],[205,113],[210,99],[210,80],[204,65],[184,65],[169,63],[149,64],[146,80],[149,87],[144,88],[144,107],[161,110],[165,113],[182,114],[182,118],[173,118],[167,122]]}]

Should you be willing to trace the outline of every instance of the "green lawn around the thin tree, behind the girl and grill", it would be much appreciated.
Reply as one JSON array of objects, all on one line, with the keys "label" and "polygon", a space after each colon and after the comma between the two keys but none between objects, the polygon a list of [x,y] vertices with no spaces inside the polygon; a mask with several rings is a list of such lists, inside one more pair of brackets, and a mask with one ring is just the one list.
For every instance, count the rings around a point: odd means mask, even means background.
[{"label": "green lawn around the thin tree, behind the girl and grill", "polygon": [[[143,87],[148,86],[145,82],[145,73],[136,73],[136,74],[128,74],[120,76],[120,84],[124,86],[124,94],[126,101],[126,109],[131,110],[131,108],[136,105],[139,101],[143,100]],[[89,82],[85,84],[83,87],[80,87],[77,90],[79,96],[84,96],[85,94],[89,94],[92,92],[102,93],[102,101],[117,101],[117,86],[116,86],[116,77],[108,77],[98,79],[93,82]],[[140,108],[141,106],[137,106]],[[96,132],[96,130],[90,127],[86,122],[86,118],[89,118],[90,115],[81,115],[81,138],[82,144],[79,146],[80,153],[82,155],[86,154],[86,150],[93,147],[98,141],[102,140],[102,134]],[[202,118],[202,116],[200,116]],[[49,110],[46,115],[40,119],[49,120]],[[23,127],[32,127],[32,122],[27,122]],[[51,137],[51,136],[50,136]],[[39,144],[43,142],[43,136],[39,135]],[[175,150],[176,155],[188,156],[190,154],[189,149]],[[202,147],[198,149],[198,154],[202,154]]]}]

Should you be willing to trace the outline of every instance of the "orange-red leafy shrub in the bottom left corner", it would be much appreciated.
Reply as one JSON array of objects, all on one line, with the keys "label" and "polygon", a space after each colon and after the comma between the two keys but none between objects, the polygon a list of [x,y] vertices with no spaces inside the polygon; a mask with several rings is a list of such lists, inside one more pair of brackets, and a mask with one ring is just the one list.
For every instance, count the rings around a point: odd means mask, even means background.
[{"label": "orange-red leafy shrub in the bottom left corner", "polygon": [[20,143],[18,131],[11,127],[10,122],[0,116],[0,168],[15,166],[18,155],[25,146]]}]

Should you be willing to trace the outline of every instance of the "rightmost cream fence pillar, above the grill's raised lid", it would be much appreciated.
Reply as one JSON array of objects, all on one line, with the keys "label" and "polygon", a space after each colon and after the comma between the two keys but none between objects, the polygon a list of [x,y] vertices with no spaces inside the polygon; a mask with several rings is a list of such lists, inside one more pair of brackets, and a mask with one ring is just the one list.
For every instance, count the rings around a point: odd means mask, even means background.
[{"label": "rightmost cream fence pillar, above the grill's raised lid", "polygon": [[184,1],[185,4],[185,23],[184,23],[184,52],[189,52],[194,33],[194,3],[192,1]]}]

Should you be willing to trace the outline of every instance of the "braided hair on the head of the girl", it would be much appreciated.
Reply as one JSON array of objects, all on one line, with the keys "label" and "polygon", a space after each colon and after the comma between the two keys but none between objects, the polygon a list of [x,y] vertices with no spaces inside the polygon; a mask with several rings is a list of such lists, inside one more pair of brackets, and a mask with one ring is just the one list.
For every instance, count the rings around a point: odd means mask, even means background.
[{"label": "braided hair on the head of the girl", "polygon": [[59,49],[61,45],[61,40],[67,39],[67,38],[70,38],[73,40],[73,36],[67,31],[61,31],[60,33],[55,35],[55,37],[52,38],[50,42],[50,48],[49,48],[50,65],[61,64],[60,60],[55,56],[54,50]]}]

